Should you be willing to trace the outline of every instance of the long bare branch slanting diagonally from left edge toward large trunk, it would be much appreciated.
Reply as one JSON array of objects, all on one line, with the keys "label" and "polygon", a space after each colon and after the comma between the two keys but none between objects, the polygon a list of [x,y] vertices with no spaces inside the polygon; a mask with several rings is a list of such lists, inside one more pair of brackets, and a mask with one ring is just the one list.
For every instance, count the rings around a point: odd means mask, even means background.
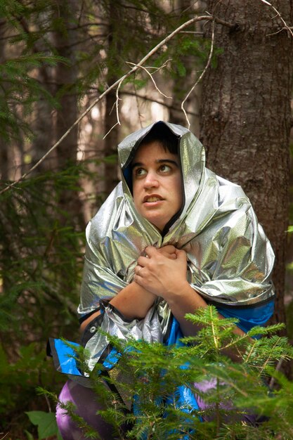
[{"label": "long bare branch slanting diagonally from left edge toward large trunk", "polygon": [[127,72],[125,75],[123,75],[120,79],[117,79],[117,81],[114,82],[111,86],[109,86],[107,90],[105,90],[103,93],[101,93],[101,95],[98,98],[96,98],[91,103],[91,105],[89,105],[89,107],[86,108],[86,110],[84,110],[84,112],[82,112],[82,115],[80,115],[77,118],[77,120],[72,124],[72,126],[69,129],[67,129],[67,131],[65,131],[63,136],[61,136],[58,139],[58,141],[56,143],[54,143],[54,145],[47,151],[47,153],[45,153],[41,157],[41,159],[39,159],[38,162],[36,164],[34,164],[34,166],[32,168],[30,168],[25,174],[22,174],[22,176],[20,176],[20,178],[18,180],[12,182],[10,184],[10,186],[7,186],[3,190],[1,190],[0,195],[5,193],[9,188],[14,187],[16,185],[16,183],[19,183],[20,181],[25,179],[32,171],[34,171],[34,169],[39,167],[39,164],[41,164],[41,162],[44,162],[46,157],[48,157],[48,155],[51,154],[52,151],[58,147],[58,145],[60,145],[60,143],[68,136],[68,134],[70,134],[70,132],[74,129],[74,127],[76,127],[77,124],[79,124],[79,122],[91,111],[91,109],[98,102],[100,102],[112,89],[115,89],[115,87],[119,86],[119,84],[121,85],[122,82],[124,82],[124,80],[126,78],[128,78],[132,74],[134,74],[134,72],[136,72],[136,70],[138,70],[145,63],[145,61],[147,61],[150,57],[152,57],[152,55],[154,55],[154,53],[156,53],[159,50],[159,48],[161,48],[162,46],[167,44],[168,41],[170,41],[176,34],[178,34],[178,32],[181,32],[181,30],[185,29],[185,27],[188,27],[188,26],[192,25],[194,22],[201,21],[201,20],[214,20],[214,18],[211,15],[201,15],[200,17],[191,18],[190,20],[183,23],[181,26],[176,27],[176,29],[173,32],[171,32],[171,34],[169,34],[166,38],[164,38],[162,41],[160,41],[157,44],[157,46],[152,48],[152,50],[150,52],[148,52],[137,65],[135,65],[131,70],[129,70],[129,72]]}]

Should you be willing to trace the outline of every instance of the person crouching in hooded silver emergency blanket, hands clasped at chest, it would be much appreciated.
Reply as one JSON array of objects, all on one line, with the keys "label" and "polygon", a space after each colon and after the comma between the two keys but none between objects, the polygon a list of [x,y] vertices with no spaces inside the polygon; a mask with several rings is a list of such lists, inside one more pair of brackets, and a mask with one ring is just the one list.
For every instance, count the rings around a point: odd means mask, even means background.
[{"label": "person crouching in hooded silver emergency blanket, hands clasped at chest", "polygon": [[[89,367],[106,353],[99,327],[170,344],[195,334],[185,313],[207,304],[239,318],[239,334],[265,324],[273,313],[274,255],[240,186],[207,169],[200,141],[175,124],[136,131],[118,153],[122,182],[86,228],[78,312]],[[93,399],[72,381],[60,394],[110,439]],[[63,439],[83,438],[60,408],[57,420]]]}]

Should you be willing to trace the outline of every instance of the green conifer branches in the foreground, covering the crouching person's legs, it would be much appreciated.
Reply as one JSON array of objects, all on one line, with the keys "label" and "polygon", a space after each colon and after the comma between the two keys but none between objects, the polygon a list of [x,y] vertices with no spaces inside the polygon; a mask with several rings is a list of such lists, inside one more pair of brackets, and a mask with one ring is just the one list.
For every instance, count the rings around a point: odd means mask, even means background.
[{"label": "green conifer branches in the foreground, covering the crouching person's legs", "polygon": [[[125,344],[108,336],[122,356],[107,373],[98,364],[91,381],[105,408],[98,413],[113,426],[115,438],[292,439],[293,384],[275,370],[278,361],[293,358],[287,339],[275,335],[282,325],[256,327],[238,336],[233,332],[237,319],[219,318],[214,306],[199,309],[188,319],[202,330],[183,338],[182,347],[134,340]],[[86,353],[79,350],[77,358],[86,370]],[[272,377],[278,387],[269,386]],[[214,386],[202,392],[202,382]],[[206,407],[193,410],[188,403],[179,405],[182,385]],[[129,412],[130,405],[134,413]],[[98,439],[74,407],[63,408],[84,432]],[[254,425],[245,421],[245,415],[254,416]]]}]

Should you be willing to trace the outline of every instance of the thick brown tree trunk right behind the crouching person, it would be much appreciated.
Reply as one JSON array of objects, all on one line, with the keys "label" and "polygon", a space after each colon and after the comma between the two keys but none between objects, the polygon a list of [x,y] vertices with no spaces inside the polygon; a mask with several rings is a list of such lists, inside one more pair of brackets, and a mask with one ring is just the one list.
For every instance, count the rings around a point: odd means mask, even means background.
[{"label": "thick brown tree trunk right behind the crouching person", "polygon": [[[273,5],[291,26],[292,0]],[[200,137],[208,166],[244,188],[272,242],[272,321],[285,322],[293,38],[261,0],[208,1],[207,11],[233,27],[215,25],[214,44],[222,53],[202,84]]]}]

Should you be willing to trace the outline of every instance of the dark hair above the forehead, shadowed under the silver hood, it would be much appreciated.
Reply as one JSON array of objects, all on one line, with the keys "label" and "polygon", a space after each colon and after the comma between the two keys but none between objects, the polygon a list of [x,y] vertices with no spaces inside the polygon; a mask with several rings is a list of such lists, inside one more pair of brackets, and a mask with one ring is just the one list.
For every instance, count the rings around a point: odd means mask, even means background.
[{"label": "dark hair above the forehead, shadowed under the silver hood", "polygon": [[178,155],[178,136],[172,133],[172,131],[165,124],[155,124],[155,126],[152,127],[148,134],[141,140],[138,148],[141,145],[154,141],[159,142],[165,151]]}]

